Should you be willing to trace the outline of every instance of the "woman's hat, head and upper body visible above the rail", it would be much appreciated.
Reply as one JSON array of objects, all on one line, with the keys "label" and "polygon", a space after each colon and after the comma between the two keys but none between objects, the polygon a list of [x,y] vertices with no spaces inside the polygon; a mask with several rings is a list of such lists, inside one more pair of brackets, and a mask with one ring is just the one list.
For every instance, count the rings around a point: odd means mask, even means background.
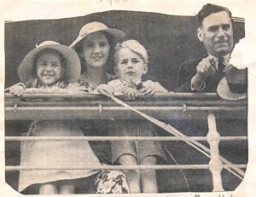
[{"label": "woman's hat, head and upper body visible above the rail", "polygon": [[78,38],[69,46],[80,56],[82,71],[79,78],[80,88],[95,90],[99,84],[107,84],[113,76],[106,72],[111,45],[124,38],[125,33],[108,28],[100,22],[90,22],[83,26]]}]

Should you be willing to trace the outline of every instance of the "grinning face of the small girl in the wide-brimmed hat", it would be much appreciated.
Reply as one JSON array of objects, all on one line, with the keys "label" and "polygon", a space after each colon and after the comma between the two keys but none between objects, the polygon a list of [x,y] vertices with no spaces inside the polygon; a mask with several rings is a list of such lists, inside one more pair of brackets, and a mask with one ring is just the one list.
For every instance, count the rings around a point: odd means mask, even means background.
[{"label": "grinning face of the small girl in the wide-brimmed hat", "polygon": [[57,54],[44,53],[37,61],[37,76],[39,82],[44,85],[57,83],[61,78],[61,57]]}]

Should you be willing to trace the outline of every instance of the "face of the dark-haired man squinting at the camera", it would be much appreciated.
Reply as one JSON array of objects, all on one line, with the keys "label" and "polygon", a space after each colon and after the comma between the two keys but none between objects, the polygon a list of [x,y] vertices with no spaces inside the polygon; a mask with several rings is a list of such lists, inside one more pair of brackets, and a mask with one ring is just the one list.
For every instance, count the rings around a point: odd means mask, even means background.
[{"label": "face of the dark-haired man squinting at the camera", "polygon": [[197,30],[210,55],[219,57],[230,54],[233,49],[233,28],[230,16],[221,11],[208,15]]}]

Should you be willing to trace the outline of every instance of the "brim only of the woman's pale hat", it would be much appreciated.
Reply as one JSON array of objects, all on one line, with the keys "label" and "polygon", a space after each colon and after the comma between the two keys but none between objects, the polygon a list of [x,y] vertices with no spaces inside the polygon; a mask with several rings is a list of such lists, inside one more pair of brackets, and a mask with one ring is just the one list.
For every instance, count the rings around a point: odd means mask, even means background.
[{"label": "brim only of the woman's pale hat", "polygon": [[[95,32],[106,32],[108,35],[112,36],[114,39],[121,39],[121,38],[124,38],[125,37],[125,32],[122,32],[118,29],[113,29],[113,28],[108,28],[108,29],[103,29],[103,30],[98,30],[98,31],[95,31]],[[85,37],[89,36],[90,34],[92,33],[95,33],[95,32],[90,32],[84,36],[78,36],[78,38],[76,38],[73,43],[70,44],[70,48],[73,48],[75,49],[76,46],[78,45],[78,43],[84,39]]]}]

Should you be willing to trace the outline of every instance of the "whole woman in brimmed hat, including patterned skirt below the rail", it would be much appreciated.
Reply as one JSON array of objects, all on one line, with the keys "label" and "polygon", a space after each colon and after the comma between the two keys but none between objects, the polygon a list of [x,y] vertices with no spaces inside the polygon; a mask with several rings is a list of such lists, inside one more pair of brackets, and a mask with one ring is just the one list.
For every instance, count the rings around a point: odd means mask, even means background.
[{"label": "whole woman in brimmed hat, including patterned skirt below the rail", "polygon": [[[108,28],[94,21],[83,26],[70,45],[79,54],[82,72],[79,78],[79,89],[87,92],[96,90],[100,84],[108,84],[114,77],[106,72],[107,62],[113,43],[125,37],[125,33]],[[101,90],[99,90],[101,91]],[[108,135],[108,121],[86,120],[79,125],[84,128],[84,135]],[[91,148],[102,163],[110,164],[111,155],[108,142],[90,142]],[[108,149],[109,147],[109,149]],[[108,181],[107,181],[108,180]],[[106,182],[107,181],[107,182]],[[109,187],[113,184],[113,187]],[[96,178],[97,194],[127,193],[128,185],[121,171],[102,171]],[[126,191],[126,192],[125,192]]]}]

